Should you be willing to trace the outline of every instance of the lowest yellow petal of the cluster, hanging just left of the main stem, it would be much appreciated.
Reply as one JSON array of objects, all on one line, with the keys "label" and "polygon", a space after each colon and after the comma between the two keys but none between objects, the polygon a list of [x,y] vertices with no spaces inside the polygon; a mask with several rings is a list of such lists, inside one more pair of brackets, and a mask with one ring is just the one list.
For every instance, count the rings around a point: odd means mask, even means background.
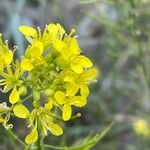
[{"label": "lowest yellow petal of the cluster, hanging just left of the main stem", "polygon": [[38,132],[36,128],[34,128],[29,135],[26,136],[25,142],[27,144],[35,143],[38,139]]}]

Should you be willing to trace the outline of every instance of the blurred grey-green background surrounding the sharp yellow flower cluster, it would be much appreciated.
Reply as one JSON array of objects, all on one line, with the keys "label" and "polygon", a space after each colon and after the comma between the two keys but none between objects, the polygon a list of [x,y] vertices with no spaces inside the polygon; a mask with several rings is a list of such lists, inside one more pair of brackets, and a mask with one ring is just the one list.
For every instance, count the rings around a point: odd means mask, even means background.
[{"label": "blurred grey-green background surrounding the sharp yellow flower cluster", "polygon": [[[150,0],[0,0],[0,32],[10,47],[18,45],[18,58],[27,43],[18,26],[44,28],[50,22],[77,30],[100,76],[88,104],[75,110],[82,116],[66,123],[61,138],[50,134],[46,143],[73,145],[115,121],[92,150],[150,150]],[[1,101],[5,97],[0,94]],[[24,122],[12,122],[23,139]],[[0,150],[13,145],[0,126]]]}]

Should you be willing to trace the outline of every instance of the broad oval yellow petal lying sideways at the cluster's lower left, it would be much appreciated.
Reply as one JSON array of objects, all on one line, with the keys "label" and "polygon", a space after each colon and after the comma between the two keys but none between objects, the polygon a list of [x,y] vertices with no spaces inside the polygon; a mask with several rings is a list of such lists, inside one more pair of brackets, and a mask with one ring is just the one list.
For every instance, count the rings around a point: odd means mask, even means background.
[{"label": "broad oval yellow petal lying sideways at the cluster's lower left", "polygon": [[27,118],[30,114],[29,110],[22,104],[14,106],[13,112],[18,118]]}]

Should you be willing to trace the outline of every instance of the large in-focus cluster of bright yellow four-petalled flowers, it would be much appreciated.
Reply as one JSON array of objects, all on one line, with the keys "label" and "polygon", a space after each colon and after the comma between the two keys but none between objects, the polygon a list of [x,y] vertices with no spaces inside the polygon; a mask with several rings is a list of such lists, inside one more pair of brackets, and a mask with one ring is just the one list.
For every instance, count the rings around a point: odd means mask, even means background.
[{"label": "large in-focus cluster of bright yellow four-petalled flowers", "polygon": [[73,107],[86,105],[97,71],[80,50],[74,29],[67,34],[60,24],[50,23],[43,32],[24,25],[19,31],[29,42],[21,60],[13,59],[16,49],[10,50],[0,36],[0,86],[10,91],[10,106],[0,104],[0,123],[7,126],[11,114],[26,119],[31,132],[25,142],[32,144],[38,128],[45,135],[63,134],[58,119],[68,121]]}]

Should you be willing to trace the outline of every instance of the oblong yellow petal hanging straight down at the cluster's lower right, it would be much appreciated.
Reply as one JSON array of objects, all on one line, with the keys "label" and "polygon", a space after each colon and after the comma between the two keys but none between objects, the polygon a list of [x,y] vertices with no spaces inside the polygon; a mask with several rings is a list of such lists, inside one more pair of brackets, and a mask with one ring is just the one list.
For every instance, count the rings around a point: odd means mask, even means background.
[{"label": "oblong yellow petal hanging straight down at the cluster's lower right", "polygon": [[65,104],[64,107],[63,107],[63,114],[62,114],[63,120],[64,121],[69,120],[70,117],[71,117],[71,114],[72,114],[71,106]]}]

